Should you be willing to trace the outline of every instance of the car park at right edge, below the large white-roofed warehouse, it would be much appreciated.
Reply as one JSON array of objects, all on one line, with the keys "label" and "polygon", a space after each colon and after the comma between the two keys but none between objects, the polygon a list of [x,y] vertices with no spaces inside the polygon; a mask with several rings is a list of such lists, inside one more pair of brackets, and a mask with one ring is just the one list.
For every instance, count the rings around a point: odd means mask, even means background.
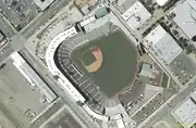
[{"label": "car park at right edge, below the large white-roofed warehouse", "polygon": [[188,82],[196,74],[195,63],[184,53],[180,54],[169,66],[183,85]]}]

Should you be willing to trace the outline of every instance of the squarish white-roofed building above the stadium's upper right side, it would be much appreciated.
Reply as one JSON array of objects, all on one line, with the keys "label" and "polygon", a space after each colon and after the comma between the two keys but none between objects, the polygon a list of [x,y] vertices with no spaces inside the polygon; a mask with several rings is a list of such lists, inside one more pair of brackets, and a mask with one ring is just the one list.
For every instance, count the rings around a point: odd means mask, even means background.
[{"label": "squarish white-roofed building above the stadium's upper right side", "polygon": [[151,14],[137,1],[122,14],[122,17],[133,30],[136,30],[151,17]]}]

